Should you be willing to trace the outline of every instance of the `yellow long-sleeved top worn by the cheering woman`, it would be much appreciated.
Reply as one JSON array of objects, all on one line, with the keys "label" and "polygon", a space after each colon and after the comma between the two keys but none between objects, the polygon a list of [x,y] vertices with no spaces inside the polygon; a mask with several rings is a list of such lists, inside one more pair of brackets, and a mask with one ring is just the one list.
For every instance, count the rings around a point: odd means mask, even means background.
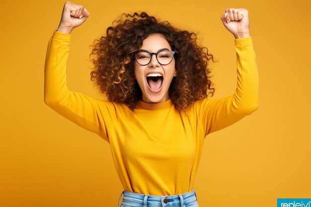
[{"label": "yellow long-sleeved top worn by the cheering woman", "polygon": [[258,74],[252,39],[235,39],[237,87],[232,96],[197,101],[188,114],[171,100],[126,105],[69,91],[66,64],[70,35],[54,32],[45,63],[45,103],[86,130],[107,140],[124,190],[176,195],[193,190],[204,138],[258,106]]}]

